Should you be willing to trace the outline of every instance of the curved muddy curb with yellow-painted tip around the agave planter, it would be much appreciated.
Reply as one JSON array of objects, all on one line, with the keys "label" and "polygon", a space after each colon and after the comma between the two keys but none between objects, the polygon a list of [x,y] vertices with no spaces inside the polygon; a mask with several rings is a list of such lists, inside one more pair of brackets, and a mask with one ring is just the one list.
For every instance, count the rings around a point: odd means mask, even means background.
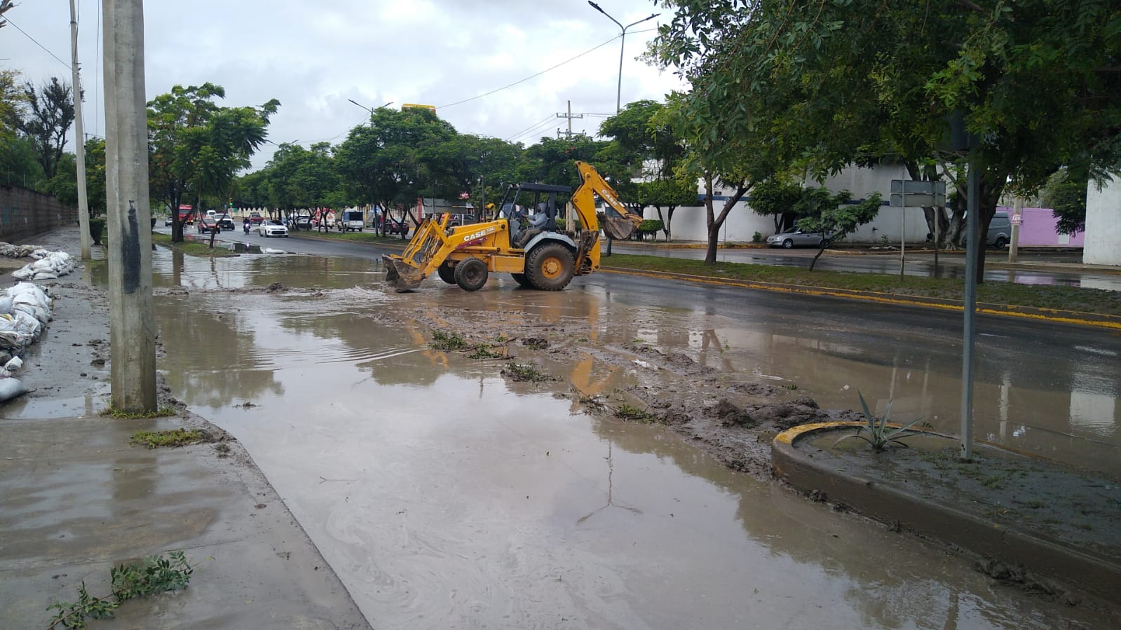
[{"label": "curved muddy curb with yellow-painted tip around the agave planter", "polygon": [[[771,443],[775,475],[803,492],[825,492],[827,500],[887,524],[962,547],[1036,575],[1054,577],[1104,600],[1121,602],[1121,566],[1081,549],[1043,538],[908,492],[893,485],[828,467],[795,447],[814,433],[863,423],[817,423],[780,433]],[[985,445],[988,448],[997,448]]]}]

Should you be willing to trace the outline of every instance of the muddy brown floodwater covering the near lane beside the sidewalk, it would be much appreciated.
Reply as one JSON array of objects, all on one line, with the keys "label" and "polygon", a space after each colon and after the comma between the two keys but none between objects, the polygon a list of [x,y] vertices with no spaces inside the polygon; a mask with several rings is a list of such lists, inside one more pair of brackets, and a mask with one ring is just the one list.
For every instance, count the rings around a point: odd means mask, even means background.
[{"label": "muddy brown floodwater covering the near lane beside the sidewalk", "polygon": [[[334,288],[312,293],[159,297],[160,369],[242,441],[374,627],[1111,621],[994,585],[960,558],[730,471],[659,427],[586,416],[556,395],[567,383],[508,385],[499,363],[432,351],[428,331],[379,314],[489,300],[488,316],[526,322],[526,312],[595,313],[589,336],[601,341],[673,336],[698,354],[710,337],[740,343],[698,326],[704,317],[590,306],[581,291],[397,295],[371,285],[373,262],[215,262],[157,256],[157,284],[299,289],[324,285],[324,266],[339,265]],[[745,356],[731,354],[730,365]],[[594,364],[554,370],[582,391],[629,378]]]}]

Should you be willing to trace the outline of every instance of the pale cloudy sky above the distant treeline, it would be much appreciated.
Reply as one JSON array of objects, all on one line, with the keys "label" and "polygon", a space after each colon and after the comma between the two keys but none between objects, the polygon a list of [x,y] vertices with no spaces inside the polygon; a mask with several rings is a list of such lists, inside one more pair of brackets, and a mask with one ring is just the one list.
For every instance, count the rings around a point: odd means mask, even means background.
[{"label": "pale cloudy sky above the distant treeline", "polygon": [[[85,132],[104,136],[101,0],[76,1]],[[654,0],[599,4],[623,25],[663,11]],[[0,67],[37,84],[70,83],[67,0],[17,0],[7,17]],[[623,104],[682,87],[671,72],[636,58],[668,18],[627,31]],[[530,145],[565,128],[556,114],[569,100],[573,114],[584,114],[573,131],[594,133],[615,111],[619,30],[586,0],[148,0],[146,89],[151,99],[210,81],[225,87],[229,105],[276,98],[269,139],[277,143],[341,142],[369,118],[352,99],[368,108],[435,105],[460,132]]]}]

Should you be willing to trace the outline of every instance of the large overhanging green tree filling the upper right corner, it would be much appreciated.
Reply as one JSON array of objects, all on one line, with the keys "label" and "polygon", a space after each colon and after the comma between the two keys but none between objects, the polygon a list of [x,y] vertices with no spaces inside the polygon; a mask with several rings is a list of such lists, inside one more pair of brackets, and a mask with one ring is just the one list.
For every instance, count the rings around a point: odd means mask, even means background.
[{"label": "large overhanging green tree filling the upper right corner", "polygon": [[961,112],[978,138],[979,238],[1007,185],[1022,194],[1059,164],[1101,175],[1121,163],[1110,0],[674,3],[651,53],[689,78],[714,137],[766,128],[815,175],[896,156],[914,177],[964,160],[944,150]]}]

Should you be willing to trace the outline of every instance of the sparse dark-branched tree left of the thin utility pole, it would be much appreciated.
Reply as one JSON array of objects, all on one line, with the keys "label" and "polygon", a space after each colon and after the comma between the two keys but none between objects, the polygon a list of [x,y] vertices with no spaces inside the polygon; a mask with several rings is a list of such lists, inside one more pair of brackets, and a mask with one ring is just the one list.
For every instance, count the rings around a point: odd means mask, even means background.
[{"label": "sparse dark-branched tree left of the thin utility pole", "polygon": [[31,142],[31,148],[43,166],[47,179],[55,176],[58,161],[66,147],[66,132],[74,124],[74,101],[70,85],[50,77],[36,91],[35,84],[24,85],[22,110],[16,119],[16,129]]}]

